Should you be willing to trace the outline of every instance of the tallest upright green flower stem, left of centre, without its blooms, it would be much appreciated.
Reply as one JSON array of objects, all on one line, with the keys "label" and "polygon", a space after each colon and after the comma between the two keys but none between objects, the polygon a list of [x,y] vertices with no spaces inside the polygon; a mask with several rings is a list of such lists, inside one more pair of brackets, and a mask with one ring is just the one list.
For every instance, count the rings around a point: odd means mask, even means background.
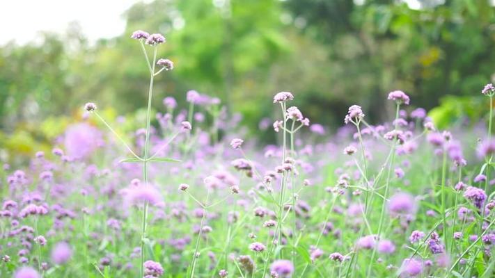
[{"label": "tallest upright green flower stem, left of centre, without its blooms", "polygon": [[[148,91],[148,111],[146,112],[146,139],[144,143],[143,178],[144,186],[148,186],[148,153],[150,150],[150,127],[151,127],[151,100],[153,96],[153,78],[155,76],[155,65],[157,63],[157,47],[153,51],[153,63],[150,72],[150,90]],[[146,238],[146,218],[148,216],[148,202],[144,202],[143,222],[141,225],[141,277],[144,277],[144,239]]]}]

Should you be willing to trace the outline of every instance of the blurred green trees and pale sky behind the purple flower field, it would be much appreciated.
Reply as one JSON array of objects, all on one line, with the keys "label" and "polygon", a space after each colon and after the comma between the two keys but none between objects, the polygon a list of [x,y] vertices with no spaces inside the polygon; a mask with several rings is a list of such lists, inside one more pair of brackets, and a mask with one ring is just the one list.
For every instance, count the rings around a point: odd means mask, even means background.
[{"label": "blurred green trees and pale sky behind the purple flower field", "polygon": [[278,115],[282,90],[330,131],[352,104],[386,120],[398,89],[439,126],[473,124],[495,72],[489,0],[1,1],[3,155],[51,144],[88,101],[109,117],[140,113],[148,72],[136,29],[163,33],[159,56],[175,63],[155,81],[155,111],[166,96],[187,107],[194,89],[242,113],[253,136]]}]

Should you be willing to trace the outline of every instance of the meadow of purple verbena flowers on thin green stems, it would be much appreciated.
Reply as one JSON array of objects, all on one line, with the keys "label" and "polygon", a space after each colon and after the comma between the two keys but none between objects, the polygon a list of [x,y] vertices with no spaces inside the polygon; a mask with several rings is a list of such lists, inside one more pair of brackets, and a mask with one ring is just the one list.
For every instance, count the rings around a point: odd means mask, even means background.
[{"label": "meadow of purple verbena flowers on thin green stems", "polygon": [[3,165],[0,277],[494,277],[492,84],[487,122],[451,131],[401,90],[388,122],[355,104],[333,134],[274,92],[258,132],[278,144],[260,145],[220,99],[157,95],[169,42],[129,40],[150,72],[143,128],[88,102],[51,153]]}]

